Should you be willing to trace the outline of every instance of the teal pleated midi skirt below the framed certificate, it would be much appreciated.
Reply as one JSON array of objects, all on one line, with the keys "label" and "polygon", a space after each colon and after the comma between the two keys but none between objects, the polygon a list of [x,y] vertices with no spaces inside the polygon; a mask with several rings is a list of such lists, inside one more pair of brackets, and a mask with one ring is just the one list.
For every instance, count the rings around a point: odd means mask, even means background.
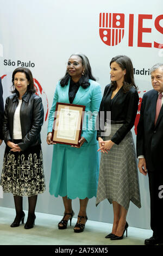
[{"label": "teal pleated midi skirt below the framed certificate", "polygon": [[57,144],[53,146],[49,192],[69,199],[96,197],[99,154],[98,144],[84,143],[81,148]]}]

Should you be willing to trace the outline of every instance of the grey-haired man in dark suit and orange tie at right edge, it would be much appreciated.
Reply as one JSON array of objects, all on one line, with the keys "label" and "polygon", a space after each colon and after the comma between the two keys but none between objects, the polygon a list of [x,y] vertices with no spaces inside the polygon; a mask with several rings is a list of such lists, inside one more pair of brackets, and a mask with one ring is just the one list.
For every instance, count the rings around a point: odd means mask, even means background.
[{"label": "grey-haired man in dark suit and orange tie at right edge", "polygon": [[139,170],[149,178],[151,229],[145,245],[163,243],[163,63],[151,69],[153,90],[143,95],[137,125],[136,150]]}]

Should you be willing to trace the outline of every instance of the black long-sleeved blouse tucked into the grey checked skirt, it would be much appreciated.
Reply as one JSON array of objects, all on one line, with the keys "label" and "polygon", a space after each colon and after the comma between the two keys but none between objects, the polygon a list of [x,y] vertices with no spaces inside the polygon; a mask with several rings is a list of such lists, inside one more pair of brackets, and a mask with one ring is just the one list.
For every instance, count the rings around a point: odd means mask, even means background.
[{"label": "black long-sleeved blouse tucked into the grey checked skirt", "polygon": [[[111,84],[105,87],[101,106],[99,108],[99,130],[97,130],[97,139],[101,136],[101,132],[104,132],[104,124],[106,121],[106,112],[111,111],[111,120],[122,121],[124,124],[117,130],[111,141],[119,144],[122,139],[127,135],[135,123],[135,117],[137,113],[137,107],[139,103],[139,95],[137,90],[132,86],[127,93],[124,93],[123,87],[118,90],[117,94],[111,100]],[[104,117],[100,112],[104,111]]]}]

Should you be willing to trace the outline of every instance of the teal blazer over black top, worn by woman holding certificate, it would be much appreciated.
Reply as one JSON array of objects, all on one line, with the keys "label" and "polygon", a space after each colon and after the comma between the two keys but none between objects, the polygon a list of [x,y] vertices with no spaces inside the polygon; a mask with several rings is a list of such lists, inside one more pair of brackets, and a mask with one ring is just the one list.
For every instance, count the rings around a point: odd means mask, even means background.
[{"label": "teal blazer over black top, worn by woman holding certificate", "polygon": [[[74,98],[72,103],[85,106],[85,114],[81,136],[86,139],[87,143],[96,144],[96,118],[102,99],[102,93],[101,86],[97,82],[93,80],[89,80],[89,82],[90,86],[86,89],[83,89],[82,86],[79,87],[76,97]],[[58,82],[57,84],[57,88],[55,89],[53,98],[53,105],[49,113],[48,132],[52,132],[53,130],[56,103],[70,103],[68,97],[69,87],[70,80],[68,81],[68,84],[65,87],[61,87],[60,82]]]}]

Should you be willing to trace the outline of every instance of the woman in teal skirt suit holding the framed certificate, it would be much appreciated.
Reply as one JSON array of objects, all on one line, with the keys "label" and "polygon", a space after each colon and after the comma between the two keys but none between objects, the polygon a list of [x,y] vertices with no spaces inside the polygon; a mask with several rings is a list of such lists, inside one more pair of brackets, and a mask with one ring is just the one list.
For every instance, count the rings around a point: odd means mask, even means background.
[{"label": "woman in teal skirt suit holding the framed certificate", "polygon": [[56,103],[85,106],[80,147],[54,145],[49,192],[55,197],[61,196],[65,206],[64,217],[58,224],[59,229],[66,229],[68,220],[71,225],[74,215],[72,199],[78,197],[80,209],[74,232],[82,232],[87,221],[88,200],[96,197],[99,162],[95,123],[101,97],[101,87],[92,76],[89,59],[84,54],[72,54],[68,59],[66,74],[55,89],[48,121],[47,143],[54,144],[51,137]]}]

